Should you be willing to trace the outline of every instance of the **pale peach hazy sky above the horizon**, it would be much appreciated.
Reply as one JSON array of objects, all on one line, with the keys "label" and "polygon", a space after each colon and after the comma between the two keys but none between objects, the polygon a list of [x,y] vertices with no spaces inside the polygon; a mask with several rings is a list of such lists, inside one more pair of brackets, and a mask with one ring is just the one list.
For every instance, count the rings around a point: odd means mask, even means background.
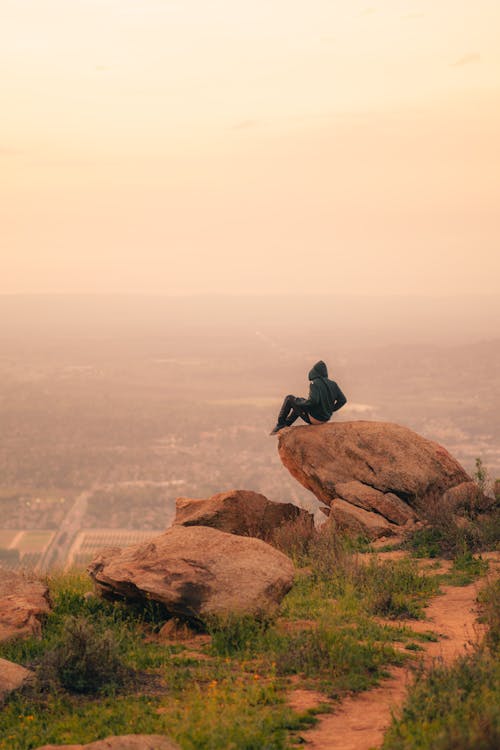
[{"label": "pale peach hazy sky above the horizon", "polygon": [[0,0],[0,292],[498,292],[498,0]]}]

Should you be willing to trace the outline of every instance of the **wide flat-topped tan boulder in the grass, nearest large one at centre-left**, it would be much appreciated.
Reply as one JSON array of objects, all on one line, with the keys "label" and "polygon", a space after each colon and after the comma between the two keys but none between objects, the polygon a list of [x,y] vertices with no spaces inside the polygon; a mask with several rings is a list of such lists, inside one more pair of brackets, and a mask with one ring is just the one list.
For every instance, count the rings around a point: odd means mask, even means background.
[{"label": "wide flat-topped tan boulder in the grass, nearest large one at centre-left", "polygon": [[144,544],[103,550],[88,571],[107,598],[160,602],[174,616],[265,615],[293,582],[286,555],[252,537],[174,526]]}]

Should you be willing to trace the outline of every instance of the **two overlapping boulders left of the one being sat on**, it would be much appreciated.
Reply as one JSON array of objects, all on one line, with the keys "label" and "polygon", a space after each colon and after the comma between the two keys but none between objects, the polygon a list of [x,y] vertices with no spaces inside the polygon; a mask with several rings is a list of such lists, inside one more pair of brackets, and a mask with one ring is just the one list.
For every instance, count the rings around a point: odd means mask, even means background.
[{"label": "two overlapping boulders left of the one being sat on", "polygon": [[299,517],[312,528],[307,511],[256,492],[182,497],[170,529],[145,544],[103,550],[88,571],[102,596],[152,600],[174,617],[267,616],[290,590],[294,566],[264,540]]}]

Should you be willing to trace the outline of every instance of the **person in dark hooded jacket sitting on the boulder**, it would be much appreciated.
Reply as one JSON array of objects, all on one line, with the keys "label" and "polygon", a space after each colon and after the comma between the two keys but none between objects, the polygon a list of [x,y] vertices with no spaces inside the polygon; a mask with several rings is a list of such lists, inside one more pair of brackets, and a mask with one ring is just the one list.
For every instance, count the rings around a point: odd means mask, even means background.
[{"label": "person in dark hooded jacket sitting on the boulder", "polygon": [[270,435],[276,435],[283,427],[290,427],[299,417],[307,424],[328,422],[333,412],[341,409],[347,402],[337,383],[329,380],[328,369],[323,360],[316,362],[309,372],[309,380],[309,398],[286,396]]}]

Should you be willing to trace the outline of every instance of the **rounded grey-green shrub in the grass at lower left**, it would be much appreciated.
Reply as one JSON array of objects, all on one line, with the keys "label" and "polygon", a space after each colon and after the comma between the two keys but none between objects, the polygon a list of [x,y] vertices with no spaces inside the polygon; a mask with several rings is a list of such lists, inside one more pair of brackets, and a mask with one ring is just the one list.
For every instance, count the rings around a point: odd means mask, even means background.
[{"label": "rounded grey-green shrub in the grass at lower left", "polygon": [[96,693],[129,676],[111,630],[99,630],[84,617],[68,617],[56,645],[38,667],[42,684],[59,683],[73,693]]}]

